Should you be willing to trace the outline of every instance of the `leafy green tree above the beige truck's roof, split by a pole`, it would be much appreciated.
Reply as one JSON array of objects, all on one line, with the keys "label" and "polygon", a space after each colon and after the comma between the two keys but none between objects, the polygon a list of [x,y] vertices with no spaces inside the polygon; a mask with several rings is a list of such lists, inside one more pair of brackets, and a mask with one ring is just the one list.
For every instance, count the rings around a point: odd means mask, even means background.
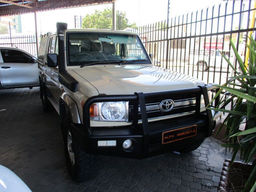
[{"label": "leafy green tree above the beige truck's roof, split by a pole", "polygon": [[[129,23],[125,12],[116,12],[116,29],[123,30],[127,27],[135,28],[136,23]],[[82,22],[82,28],[112,29],[112,9],[103,11],[95,10],[91,15],[87,14]]]}]

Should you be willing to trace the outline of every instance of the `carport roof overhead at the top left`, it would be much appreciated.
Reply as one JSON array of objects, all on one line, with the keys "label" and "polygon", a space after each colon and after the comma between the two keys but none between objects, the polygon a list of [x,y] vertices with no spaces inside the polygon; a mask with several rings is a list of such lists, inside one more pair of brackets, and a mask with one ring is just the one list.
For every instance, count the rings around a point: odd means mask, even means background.
[{"label": "carport roof overhead at the top left", "polygon": [[116,0],[0,0],[0,16],[85,5],[108,4],[115,1]]}]

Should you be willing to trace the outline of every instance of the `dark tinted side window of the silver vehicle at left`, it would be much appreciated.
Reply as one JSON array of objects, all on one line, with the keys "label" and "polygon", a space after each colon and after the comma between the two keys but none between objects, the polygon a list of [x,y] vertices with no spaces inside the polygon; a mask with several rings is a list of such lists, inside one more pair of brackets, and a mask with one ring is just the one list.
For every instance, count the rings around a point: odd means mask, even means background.
[{"label": "dark tinted side window of the silver vehicle at left", "polygon": [[1,49],[4,63],[30,63],[32,57],[24,52],[12,49]]}]

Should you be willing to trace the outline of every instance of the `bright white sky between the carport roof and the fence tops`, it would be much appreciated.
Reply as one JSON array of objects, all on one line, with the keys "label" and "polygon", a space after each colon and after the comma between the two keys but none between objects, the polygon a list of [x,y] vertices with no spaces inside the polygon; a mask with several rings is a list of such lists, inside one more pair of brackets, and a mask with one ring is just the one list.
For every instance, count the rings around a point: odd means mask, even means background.
[{"label": "bright white sky between the carport roof and the fence tops", "polygon": [[[182,2],[182,3],[181,3]],[[222,0],[170,0],[170,18],[196,11],[214,4],[220,4]],[[44,34],[48,31],[56,31],[56,22],[68,23],[68,28],[75,28],[74,16],[92,14],[95,10],[112,8],[112,4],[92,5],[68,9],[59,9],[37,13],[37,33]],[[137,26],[150,24],[167,19],[168,0],[117,0],[116,10],[126,12],[130,23]],[[22,33],[35,33],[34,13],[21,15]]]}]

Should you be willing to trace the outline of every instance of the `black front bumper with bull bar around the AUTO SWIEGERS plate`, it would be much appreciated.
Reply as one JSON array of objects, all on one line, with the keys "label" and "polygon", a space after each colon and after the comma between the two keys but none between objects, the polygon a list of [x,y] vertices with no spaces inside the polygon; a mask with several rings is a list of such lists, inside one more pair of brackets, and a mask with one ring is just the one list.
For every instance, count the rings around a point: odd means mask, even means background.
[{"label": "black front bumper with bull bar around the AUTO SWIEGERS plate", "polygon": [[[206,85],[167,92],[145,94],[140,92],[134,95],[100,95],[92,97],[84,104],[84,125],[72,124],[75,138],[79,145],[88,153],[138,159],[168,151],[179,151],[180,149],[191,147],[191,145],[201,144],[206,137],[212,135],[212,130],[215,128],[216,124],[220,123],[220,112],[215,113],[215,115],[212,113],[212,110],[208,109],[204,112],[200,112],[201,94],[204,95],[204,103],[205,106],[207,106],[209,104],[207,91],[214,88],[213,85]],[[154,97],[156,95],[180,94],[188,91],[194,92],[196,95],[195,114],[148,122],[145,98]],[[107,101],[132,101],[135,104],[133,105],[134,113],[132,125],[122,127],[96,127],[92,129],[90,127],[90,106],[95,102]],[[219,98],[216,98],[215,105],[217,105],[218,102]],[[139,104],[142,117],[141,124],[138,124],[138,111],[136,112]],[[217,119],[219,120],[218,122],[216,122]],[[163,132],[193,125],[196,125],[195,135],[162,144]],[[131,148],[124,149],[122,144],[127,139],[131,139],[133,144]],[[116,140],[116,146],[98,147],[98,141],[102,140]]]}]

